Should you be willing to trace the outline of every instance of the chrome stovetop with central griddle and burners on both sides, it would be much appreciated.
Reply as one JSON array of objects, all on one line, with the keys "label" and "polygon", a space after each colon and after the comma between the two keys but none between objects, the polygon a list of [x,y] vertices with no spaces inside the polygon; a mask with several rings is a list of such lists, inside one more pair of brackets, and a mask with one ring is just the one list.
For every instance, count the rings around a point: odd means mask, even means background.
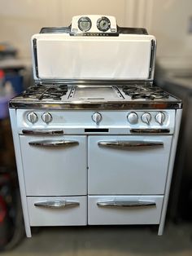
[{"label": "chrome stovetop with central griddle and burners on both sides", "polygon": [[[156,108],[156,104],[172,104],[181,103],[180,99],[177,99],[168,92],[162,90],[158,86],[152,86],[149,84],[131,84],[124,86],[117,85],[66,85],[66,84],[52,84],[52,85],[36,85],[28,87],[27,90],[11,99],[10,106],[14,107],[16,104],[76,104],[76,108],[81,104],[107,104],[111,105],[121,104],[121,107],[125,108],[124,104],[135,106],[139,108],[140,105],[151,106]],[[122,105],[123,104],[123,105]],[[27,107],[26,107],[27,108]],[[73,106],[74,108],[74,106]]]}]

